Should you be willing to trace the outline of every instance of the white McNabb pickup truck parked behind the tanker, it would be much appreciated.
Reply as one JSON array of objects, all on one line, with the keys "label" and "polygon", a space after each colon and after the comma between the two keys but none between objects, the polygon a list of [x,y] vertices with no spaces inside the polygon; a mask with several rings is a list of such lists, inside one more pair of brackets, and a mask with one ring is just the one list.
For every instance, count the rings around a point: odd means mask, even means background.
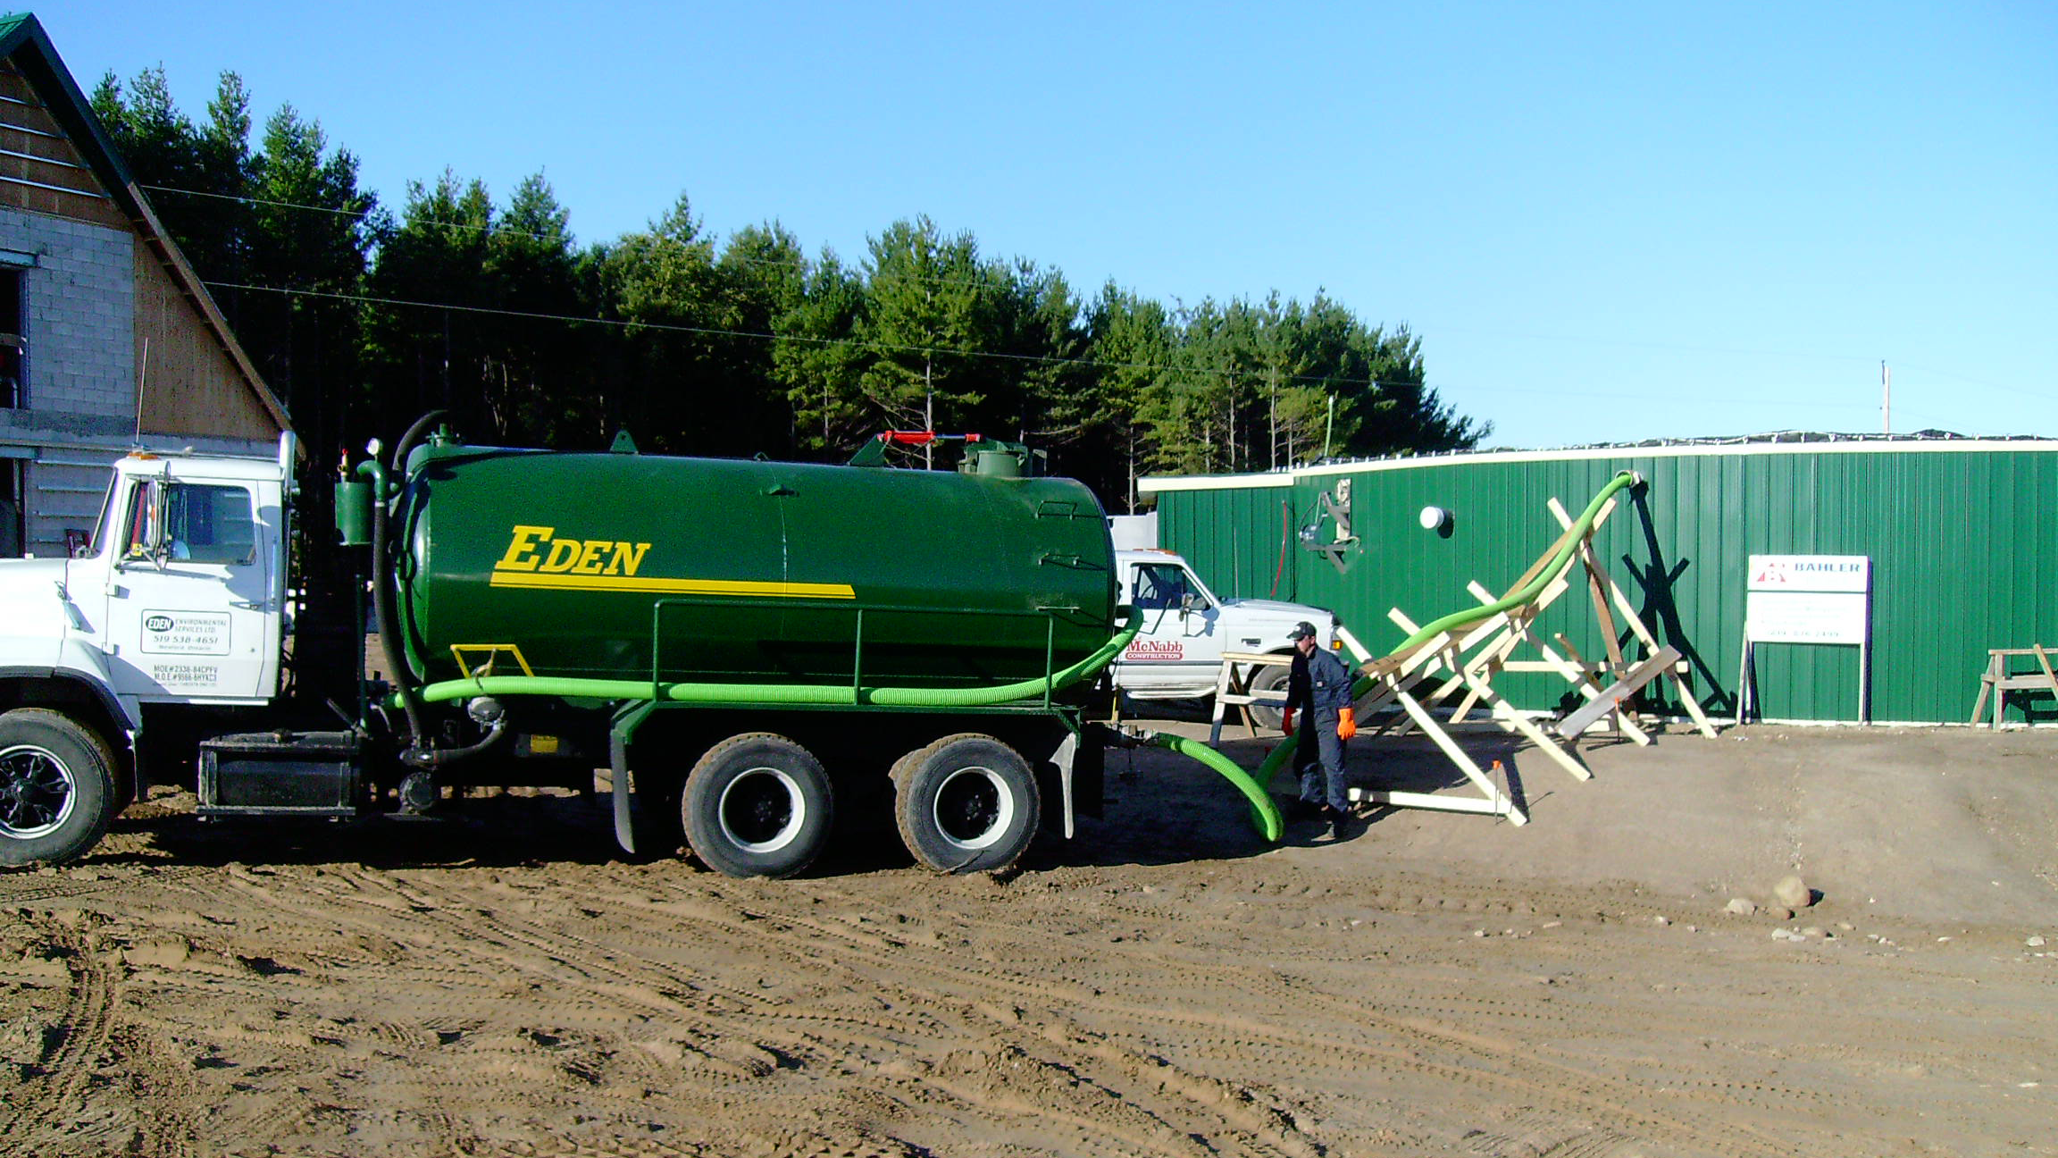
[{"label": "white McNabb pickup truck parked behind the tanker", "polygon": [[[1169,550],[1117,550],[1122,602],[1144,616],[1142,631],[1113,663],[1115,686],[1138,701],[1200,699],[1214,694],[1225,651],[1286,655],[1286,633],[1311,622],[1321,645],[1336,645],[1336,616],[1307,604],[1278,600],[1218,600],[1185,558]],[[1284,696],[1286,666],[1257,674],[1253,692]],[[1278,709],[1251,705],[1264,725],[1278,723]]]}]

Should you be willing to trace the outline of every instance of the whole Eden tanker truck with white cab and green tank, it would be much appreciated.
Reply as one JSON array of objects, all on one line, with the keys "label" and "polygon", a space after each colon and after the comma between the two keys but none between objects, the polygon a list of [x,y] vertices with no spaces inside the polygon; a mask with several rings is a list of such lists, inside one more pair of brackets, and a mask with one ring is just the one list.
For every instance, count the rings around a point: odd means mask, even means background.
[{"label": "whole Eden tanker truck with white cab and green tank", "polygon": [[924,472],[428,427],[335,484],[335,635],[381,645],[354,705],[315,692],[311,612],[288,622],[290,435],[276,462],[134,453],[88,548],[0,563],[0,863],[84,853],[175,775],[261,822],[607,769],[624,849],[731,876],[805,870],[840,789],[889,785],[941,872],[1097,806],[1087,707],[1134,616],[1099,503],[1021,447]]}]

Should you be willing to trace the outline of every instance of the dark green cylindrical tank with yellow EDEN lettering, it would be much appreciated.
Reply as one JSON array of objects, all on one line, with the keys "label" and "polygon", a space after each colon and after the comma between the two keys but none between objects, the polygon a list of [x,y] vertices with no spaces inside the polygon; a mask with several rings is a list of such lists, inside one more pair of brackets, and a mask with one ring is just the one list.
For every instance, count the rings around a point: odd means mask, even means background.
[{"label": "dark green cylindrical tank with yellow EDEN lettering", "polygon": [[1107,643],[1113,548],[1085,486],[1008,474],[426,445],[407,666],[650,680],[657,641],[663,682],[1041,678]]}]

